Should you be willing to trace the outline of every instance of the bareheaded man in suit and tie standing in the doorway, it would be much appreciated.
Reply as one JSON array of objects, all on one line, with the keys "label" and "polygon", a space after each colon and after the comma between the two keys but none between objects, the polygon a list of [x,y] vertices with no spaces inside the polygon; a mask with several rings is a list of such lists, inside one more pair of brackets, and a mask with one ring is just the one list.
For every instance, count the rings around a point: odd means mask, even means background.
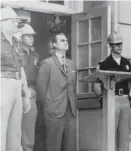
[{"label": "bareheaded man in suit and tie standing in the doorway", "polygon": [[66,58],[65,34],[56,34],[52,45],[55,53],[42,61],[37,78],[46,151],[76,151],[76,78],[72,61]]}]

